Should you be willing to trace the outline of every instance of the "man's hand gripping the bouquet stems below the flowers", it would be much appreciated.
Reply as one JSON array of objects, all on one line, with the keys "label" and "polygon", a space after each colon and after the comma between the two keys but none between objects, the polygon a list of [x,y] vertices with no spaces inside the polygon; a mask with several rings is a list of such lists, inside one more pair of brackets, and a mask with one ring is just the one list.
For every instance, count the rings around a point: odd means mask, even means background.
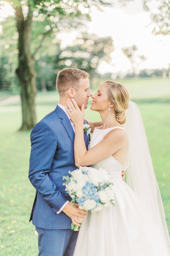
[{"label": "man's hand gripping the bouquet stems below the flowers", "polygon": [[79,209],[78,204],[68,203],[64,209],[62,210],[65,214],[67,214],[73,223],[80,227],[80,223],[85,221],[87,217],[87,211]]}]

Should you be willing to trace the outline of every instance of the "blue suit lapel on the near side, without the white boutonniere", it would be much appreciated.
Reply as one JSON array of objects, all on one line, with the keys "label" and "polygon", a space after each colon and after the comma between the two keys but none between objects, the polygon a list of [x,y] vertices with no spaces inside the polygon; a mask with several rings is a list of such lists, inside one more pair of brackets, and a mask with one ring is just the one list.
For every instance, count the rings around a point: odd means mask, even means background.
[{"label": "blue suit lapel on the near side, without the white boutonniere", "polygon": [[73,128],[71,126],[70,120],[68,119],[68,116],[66,115],[66,113],[59,108],[59,106],[57,106],[57,108],[55,109],[55,112],[57,112],[58,116],[61,120],[62,125],[64,126],[65,130],[68,133],[68,136],[70,137],[72,143],[74,143],[74,131]]}]

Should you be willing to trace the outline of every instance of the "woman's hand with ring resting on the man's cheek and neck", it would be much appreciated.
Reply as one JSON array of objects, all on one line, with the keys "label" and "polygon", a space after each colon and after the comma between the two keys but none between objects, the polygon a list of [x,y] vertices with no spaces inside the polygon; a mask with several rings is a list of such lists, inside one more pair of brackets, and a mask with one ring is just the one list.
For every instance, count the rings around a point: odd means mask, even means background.
[{"label": "woman's hand with ring resting on the man's cheek and neck", "polygon": [[67,107],[65,106],[65,109],[69,116],[71,117],[71,120],[74,122],[74,125],[83,125],[84,119],[85,119],[85,107],[82,105],[81,110],[79,109],[79,106],[77,105],[77,102],[74,99],[68,99],[67,100]]}]

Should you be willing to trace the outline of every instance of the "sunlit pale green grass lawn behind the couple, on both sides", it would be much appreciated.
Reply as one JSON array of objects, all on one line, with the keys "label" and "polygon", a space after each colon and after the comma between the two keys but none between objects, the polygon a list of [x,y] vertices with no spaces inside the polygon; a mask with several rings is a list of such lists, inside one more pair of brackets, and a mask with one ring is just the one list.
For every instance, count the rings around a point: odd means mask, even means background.
[{"label": "sunlit pale green grass lawn behind the couple, on both sides", "polygon": [[[122,82],[139,103],[142,112],[170,230],[170,79],[158,80]],[[162,90],[157,92],[159,86]],[[56,92],[39,93],[36,98],[37,121],[53,111],[57,102]],[[88,108],[86,119],[96,121],[99,115]],[[20,126],[20,105],[0,107],[0,256],[38,254],[34,226],[28,223],[35,194],[28,180],[30,131],[18,132]]]}]

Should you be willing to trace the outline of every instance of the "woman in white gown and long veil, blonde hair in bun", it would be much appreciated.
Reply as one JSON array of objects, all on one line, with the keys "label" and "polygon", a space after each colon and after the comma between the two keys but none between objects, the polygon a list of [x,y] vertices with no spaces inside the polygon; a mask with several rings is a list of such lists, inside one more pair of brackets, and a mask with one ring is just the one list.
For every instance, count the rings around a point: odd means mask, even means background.
[{"label": "woman in white gown and long veil, blonde hair in bun", "polygon": [[[163,204],[140,111],[129,101],[127,88],[115,82],[102,84],[92,99],[91,110],[100,113],[102,126],[94,129],[88,151],[84,106],[80,110],[74,99],[68,99],[66,110],[76,129],[75,162],[108,171],[116,188],[115,205],[88,212],[74,256],[170,256]],[[128,185],[122,180],[126,169]]]}]

